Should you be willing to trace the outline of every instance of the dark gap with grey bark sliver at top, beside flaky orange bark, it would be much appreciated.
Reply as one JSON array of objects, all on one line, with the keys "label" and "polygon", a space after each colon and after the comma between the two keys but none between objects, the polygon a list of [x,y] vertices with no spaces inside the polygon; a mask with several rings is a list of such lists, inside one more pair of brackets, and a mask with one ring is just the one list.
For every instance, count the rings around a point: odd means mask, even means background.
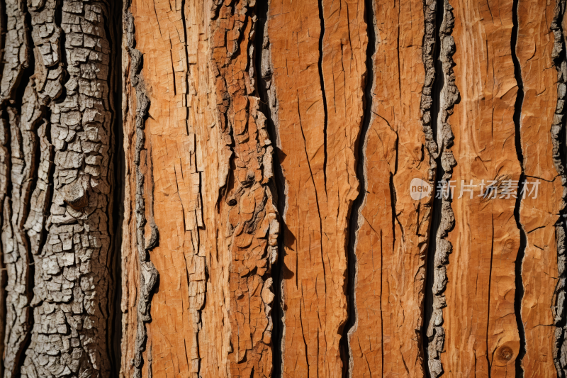
[{"label": "dark gap with grey bark sliver at top, beside flaky orange bark", "polygon": [[[269,4],[270,0],[259,1],[258,4],[258,21],[257,35],[262,38],[255,40],[256,46],[256,67],[257,67],[257,87],[260,101],[260,110],[266,114],[266,130],[269,133],[270,140],[274,141],[274,148],[281,150],[281,140],[278,130],[278,105],[276,96],[276,86],[272,83],[271,65],[271,45],[269,42],[267,23],[269,22]],[[278,213],[281,216],[286,214],[287,197],[286,197],[286,179],[283,177],[283,169],[279,161],[279,155],[276,153],[274,160],[274,179],[270,183],[271,190],[276,197]],[[285,223],[282,223],[282,226]],[[278,235],[278,250],[283,251],[283,233]],[[278,256],[272,266],[272,277],[274,279],[274,308],[272,310],[272,322],[274,330],[272,331],[272,352],[273,371],[271,376],[274,378],[282,377],[283,372],[283,333],[284,333],[284,316],[283,313],[283,257]]]}]

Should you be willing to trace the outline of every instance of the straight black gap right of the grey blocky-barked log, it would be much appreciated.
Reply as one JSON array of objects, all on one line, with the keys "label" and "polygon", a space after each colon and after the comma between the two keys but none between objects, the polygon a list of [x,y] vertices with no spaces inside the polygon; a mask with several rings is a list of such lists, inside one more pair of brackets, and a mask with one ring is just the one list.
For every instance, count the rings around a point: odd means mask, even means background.
[{"label": "straight black gap right of the grey blocky-barked log", "polygon": [[[114,196],[111,218],[113,221],[113,230],[111,233],[114,235],[113,248],[111,249],[112,265],[111,271],[113,287],[111,287],[111,299],[109,299],[109,306],[111,306],[111,319],[109,319],[110,330],[107,334],[108,337],[108,355],[111,358],[111,377],[117,378],[120,372],[120,364],[122,360],[122,349],[120,344],[122,341],[122,310],[120,303],[122,301],[122,242],[123,234],[122,228],[124,223],[124,196],[126,182],[123,180],[125,177],[125,152],[123,149],[123,117],[122,117],[122,56],[123,44],[122,42],[122,11],[123,1],[116,0],[111,3],[109,9],[111,20],[104,23],[107,28],[106,33],[108,40],[111,42],[111,113],[113,115],[113,127],[111,134],[114,136],[111,145],[111,153],[113,154],[114,166]],[[59,11],[57,12],[59,13]],[[64,35],[64,33],[62,33]]]}]

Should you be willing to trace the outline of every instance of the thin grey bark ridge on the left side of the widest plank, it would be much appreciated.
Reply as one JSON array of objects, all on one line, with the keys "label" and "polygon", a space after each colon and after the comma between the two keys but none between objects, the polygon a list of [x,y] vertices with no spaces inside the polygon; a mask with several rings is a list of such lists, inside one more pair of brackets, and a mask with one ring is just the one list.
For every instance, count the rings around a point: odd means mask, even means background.
[{"label": "thin grey bark ridge on the left side of the widest plank", "polygon": [[[134,351],[134,377],[142,377],[143,357],[142,352],[146,350],[147,330],[145,323],[152,320],[151,316],[151,302],[152,293],[158,283],[159,273],[154,264],[150,261],[148,251],[157,246],[159,242],[159,233],[157,226],[153,219],[150,220],[151,235],[149,240],[146,240],[145,225],[146,219],[146,204],[145,199],[153,195],[152,192],[145,193],[146,174],[144,166],[148,166],[148,154],[144,153],[146,161],[142,161],[142,150],[147,152],[145,146],[145,119],[148,116],[148,109],[150,109],[150,99],[146,95],[145,84],[141,74],[143,55],[140,50],[135,48],[135,26],[134,18],[130,13],[130,1],[125,4],[124,13],[125,32],[127,40],[127,48],[130,53],[130,84],[136,91],[136,113],[135,113],[135,126],[136,126],[136,145],[134,164],[136,169],[136,189],[135,189],[135,216],[136,216],[136,244],[137,255],[140,262],[140,289],[139,298],[137,301],[137,331]],[[151,174],[151,172],[148,172]],[[151,207],[151,204],[150,204]],[[151,210],[151,209],[150,209]],[[150,357],[148,356],[148,359]],[[151,363],[148,363],[148,375],[151,374]]]}]

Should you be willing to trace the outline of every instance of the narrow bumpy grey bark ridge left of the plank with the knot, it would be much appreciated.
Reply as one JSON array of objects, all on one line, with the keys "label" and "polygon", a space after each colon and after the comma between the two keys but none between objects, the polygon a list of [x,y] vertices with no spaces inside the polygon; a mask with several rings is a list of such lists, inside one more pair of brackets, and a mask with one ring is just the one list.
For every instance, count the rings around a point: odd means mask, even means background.
[{"label": "narrow bumpy grey bark ridge left of the plank with the knot", "polygon": [[[447,306],[444,291],[447,288],[447,265],[452,245],[447,240],[449,231],[454,228],[454,213],[451,209],[451,188],[449,180],[452,177],[453,167],[456,160],[450,148],[453,144],[454,135],[449,125],[449,116],[453,113],[453,106],[459,99],[459,90],[456,88],[453,73],[454,62],[452,55],[455,52],[455,43],[451,36],[454,27],[453,7],[448,0],[443,3],[443,21],[439,27],[439,60],[442,63],[443,87],[439,94],[439,116],[437,119],[437,144],[439,150],[437,157],[440,159],[443,169],[441,218],[437,229],[434,252],[434,272],[432,282],[433,310],[429,326],[427,328],[428,367],[431,377],[437,378],[443,374],[440,354],[444,352],[445,331],[443,328],[443,308]],[[427,17],[426,17],[427,20]],[[425,94],[424,94],[425,95]],[[423,101],[422,101],[423,102]]]}]

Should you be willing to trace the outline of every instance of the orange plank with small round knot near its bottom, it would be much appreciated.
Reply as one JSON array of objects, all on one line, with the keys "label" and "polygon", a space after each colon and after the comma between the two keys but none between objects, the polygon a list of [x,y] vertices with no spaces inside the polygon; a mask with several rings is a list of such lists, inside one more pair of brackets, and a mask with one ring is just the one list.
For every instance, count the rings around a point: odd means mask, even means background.
[{"label": "orange plank with small round knot near its bottom", "polygon": [[[512,0],[459,1],[454,6],[454,76],[461,99],[454,106],[451,150],[458,164],[451,179],[453,245],[447,265],[443,310],[445,374],[462,377],[516,377],[520,351],[515,300],[515,260],[520,230],[514,218],[518,182],[514,106],[517,82],[510,55]],[[476,17],[481,21],[472,22]],[[485,43],[476,43],[483,40]],[[471,59],[471,57],[476,57]],[[485,187],[478,184],[484,182]],[[493,189],[488,189],[494,182]],[[466,189],[466,188],[465,188]],[[461,197],[459,199],[459,197]]]}]

